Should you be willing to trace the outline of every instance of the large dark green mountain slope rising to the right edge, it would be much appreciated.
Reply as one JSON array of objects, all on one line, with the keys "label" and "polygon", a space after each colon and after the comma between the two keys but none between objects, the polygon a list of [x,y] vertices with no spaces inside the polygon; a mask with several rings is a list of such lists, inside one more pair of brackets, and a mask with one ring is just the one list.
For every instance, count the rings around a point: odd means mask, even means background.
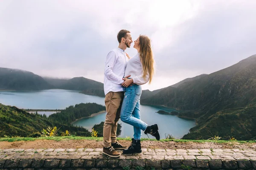
[{"label": "large dark green mountain slope rising to the right edge", "polygon": [[[250,129],[241,135],[239,127],[242,127],[243,122],[239,117],[234,120],[238,125],[236,130],[230,131],[230,127],[219,125],[223,120],[216,113],[234,115],[236,108],[239,108],[237,111],[245,114],[244,122],[250,122],[247,120],[248,108],[253,113],[253,106],[256,104],[256,55],[223,70],[184,82],[177,88],[164,88],[154,96],[142,99],[141,104],[165,105],[183,110],[178,116],[196,118],[198,125],[193,127],[184,139],[207,139],[211,133],[221,134],[225,138],[234,136],[237,139],[251,139],[253,126],[248,125]],[[211,122],[211,126],[209,118],[215,121]],[[223,123],[228,125],[230,120],[225,120]]]}]

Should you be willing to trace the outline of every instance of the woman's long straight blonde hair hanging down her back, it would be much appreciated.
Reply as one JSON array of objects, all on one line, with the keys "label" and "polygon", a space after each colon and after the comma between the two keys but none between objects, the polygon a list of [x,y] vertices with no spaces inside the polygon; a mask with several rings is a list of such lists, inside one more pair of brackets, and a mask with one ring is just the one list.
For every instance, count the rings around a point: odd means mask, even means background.
[{"label": "woman's long straight blonde hair hanging down her back", "polygon": [[140,35],[139,37],[139,48],[140,48],[140,61],[143,67],[143,78],[149,74],[149,84],[152,81],[154,75],[154,57],[151,48],[151,40],[148,36]]}]

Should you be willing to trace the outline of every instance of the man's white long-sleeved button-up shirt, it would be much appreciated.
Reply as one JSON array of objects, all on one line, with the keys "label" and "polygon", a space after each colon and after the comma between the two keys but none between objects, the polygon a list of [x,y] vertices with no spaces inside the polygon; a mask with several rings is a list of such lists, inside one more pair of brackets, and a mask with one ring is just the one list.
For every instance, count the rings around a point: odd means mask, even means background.
[{"label": "man's white long-sleeved button-up shirt", "polygon": [[104,71],[104,93],[123,91],[122,79],[125,75],[125,68],[128,57],[121,48],[113,49],[108,53]]}]

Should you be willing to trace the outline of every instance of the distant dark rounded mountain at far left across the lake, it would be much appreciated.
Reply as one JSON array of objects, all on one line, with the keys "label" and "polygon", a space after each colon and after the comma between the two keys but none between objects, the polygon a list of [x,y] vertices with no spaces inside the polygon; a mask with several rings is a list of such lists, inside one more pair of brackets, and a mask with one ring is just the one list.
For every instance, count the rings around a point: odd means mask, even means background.
[{"label": "distant dark rounded mountain at far left across the lake", "polygon": [[44,90],[50,88],[53,86],[32,72],[0,68],[0,90]]}]

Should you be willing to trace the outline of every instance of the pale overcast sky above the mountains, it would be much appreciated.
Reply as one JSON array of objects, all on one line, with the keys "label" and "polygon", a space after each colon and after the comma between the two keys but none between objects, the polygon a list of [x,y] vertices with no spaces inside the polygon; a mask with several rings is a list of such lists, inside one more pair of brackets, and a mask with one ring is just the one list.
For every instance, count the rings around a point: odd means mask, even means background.
[{"label": "pale overcast sky above the mountains", "polygon": [[256,0],[1,0],[0,67],[103,82],[127,29],[152,40],[155,90],[256,54],[255,16]]}]

